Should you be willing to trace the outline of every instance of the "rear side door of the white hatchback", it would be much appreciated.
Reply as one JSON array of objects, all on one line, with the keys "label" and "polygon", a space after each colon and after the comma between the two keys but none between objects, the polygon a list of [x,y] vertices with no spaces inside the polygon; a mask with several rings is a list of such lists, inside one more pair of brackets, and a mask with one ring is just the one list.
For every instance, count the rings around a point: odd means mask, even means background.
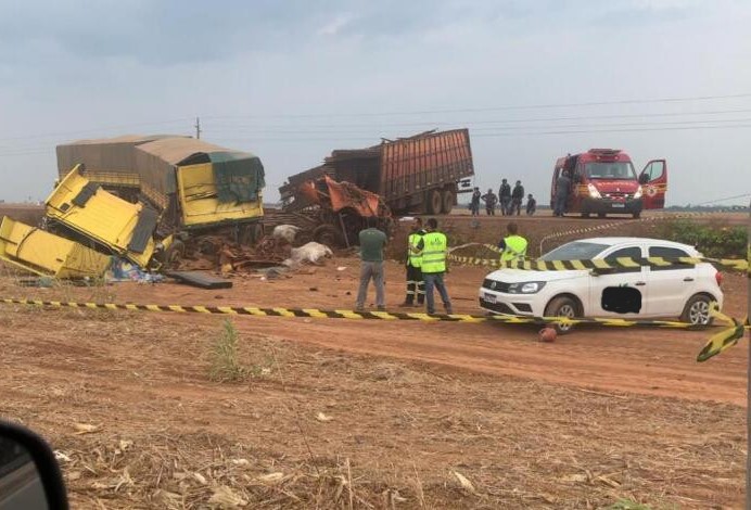
[{"label": "rear side door of the white hatchback", "polygon": [[[688,257],[685,251],[672,246],[649,246],[650,257]],[[697,267],[690,264],[649,266],[647,284],[649,301],[647,313],[655,317],[677,317],[693,294],[697,284]]]}]

